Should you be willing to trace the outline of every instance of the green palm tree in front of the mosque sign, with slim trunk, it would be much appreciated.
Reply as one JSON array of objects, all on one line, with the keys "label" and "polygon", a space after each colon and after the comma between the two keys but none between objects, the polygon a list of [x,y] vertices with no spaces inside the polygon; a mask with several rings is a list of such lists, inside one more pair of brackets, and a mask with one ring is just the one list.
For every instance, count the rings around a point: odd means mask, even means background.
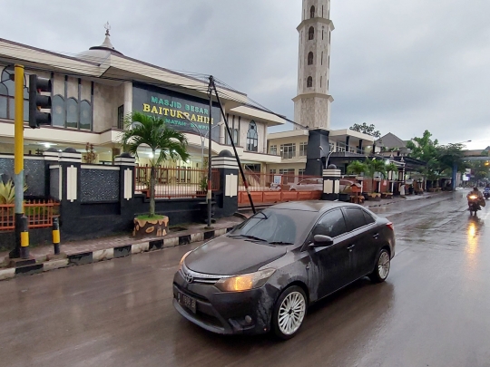
[{"label": "green palm tree in front of the mosque sign, with slim trunk", "polygon": [[184,134],[171,129],[164,119],[142,112],[133,112],[124,121],[121,143],[123,150],[138,157],[138,148],[152,150],[150,171],[150,217],[155,217],[155,167],[166,159],[189,159]]}]

